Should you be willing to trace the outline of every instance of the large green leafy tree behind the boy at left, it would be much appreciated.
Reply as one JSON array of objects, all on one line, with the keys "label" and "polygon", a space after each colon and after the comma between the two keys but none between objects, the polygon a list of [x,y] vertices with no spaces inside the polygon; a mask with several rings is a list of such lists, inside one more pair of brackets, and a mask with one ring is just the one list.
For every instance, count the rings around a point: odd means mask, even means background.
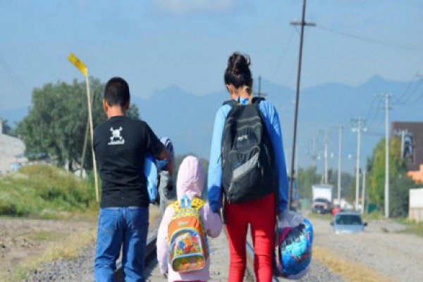
[{"label": "large green leafy tree behind the boy at left", "polygon": [[[90,79],[90,84],[94,94],[92,120],[95,128],[106,121],[102,95],[99,94],[104,85],[95,78]],[[136,117],[137,108],[130,112]],[[71,85],[66,82],[48,83],[33,90],[29,114],[18,123],[17,131],[23,137],[26,153],[47,153],[55,164],[63,166],[68,163],[72,171],[73,164],[81,161],[87,116],[85,82],[73,80]],[[85,168],[92,168],[90,149],[85,159]]]}]

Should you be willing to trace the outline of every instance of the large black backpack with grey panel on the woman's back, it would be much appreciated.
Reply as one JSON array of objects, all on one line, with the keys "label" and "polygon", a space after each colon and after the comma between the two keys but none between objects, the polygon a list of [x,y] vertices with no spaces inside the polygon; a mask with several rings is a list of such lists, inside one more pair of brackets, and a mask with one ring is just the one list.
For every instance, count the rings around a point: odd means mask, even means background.
[{"label": "large black backpack with grey panel on the woman's back", "polygon": [[275,192],[274,149],[259,103],[238,105],[226,117],[221,143],[222,187],[230,203],[247,202]]}]

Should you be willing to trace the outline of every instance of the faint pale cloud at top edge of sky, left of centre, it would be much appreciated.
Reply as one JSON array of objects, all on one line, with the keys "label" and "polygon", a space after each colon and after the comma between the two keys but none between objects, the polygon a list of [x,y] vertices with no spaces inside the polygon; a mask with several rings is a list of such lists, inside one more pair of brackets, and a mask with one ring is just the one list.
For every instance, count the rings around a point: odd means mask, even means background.
[{"label": "faint pale cloud at top edge of sky, left of centre", "polygon": [[195,12],[227,12],[233,7],[235,0],[154,0],[161,10],[176,15]]}]

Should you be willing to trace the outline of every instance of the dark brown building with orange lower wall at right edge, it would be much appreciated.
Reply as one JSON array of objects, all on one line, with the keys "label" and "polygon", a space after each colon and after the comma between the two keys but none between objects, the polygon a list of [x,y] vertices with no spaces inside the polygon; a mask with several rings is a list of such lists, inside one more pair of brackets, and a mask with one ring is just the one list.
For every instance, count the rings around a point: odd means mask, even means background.
[{"label": "dark brown building with orange lower wall at right edge", "polygon": [[409,159],[408,176],[423,183],[423,122],[394,121],[391,133],[401,138],[401,154]]}]

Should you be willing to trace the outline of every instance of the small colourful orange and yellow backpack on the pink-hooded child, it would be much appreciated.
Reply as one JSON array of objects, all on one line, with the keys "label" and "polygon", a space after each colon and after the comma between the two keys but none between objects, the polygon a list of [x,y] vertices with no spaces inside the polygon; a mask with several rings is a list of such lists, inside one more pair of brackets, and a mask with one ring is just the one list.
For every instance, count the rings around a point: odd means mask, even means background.
[{"label": "small colourful orange and yellow backpack on the pink-hooded child", "polygon": [[174,214],[168,225],[168,263],[173,271],[188,272],[202,269],[209,254],[207,235],[200,213],[204,202],[187,195],[172,204]]}]

